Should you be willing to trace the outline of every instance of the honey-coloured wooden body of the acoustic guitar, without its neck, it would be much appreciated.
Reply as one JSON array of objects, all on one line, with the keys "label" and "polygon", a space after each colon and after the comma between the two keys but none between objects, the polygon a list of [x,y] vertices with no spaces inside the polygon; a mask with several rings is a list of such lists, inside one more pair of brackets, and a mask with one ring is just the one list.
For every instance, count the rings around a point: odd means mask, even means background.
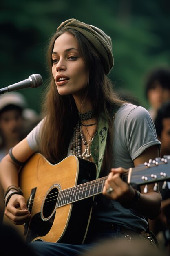
[{"label": "honey-coloured wooden body of the acoustic guitar, without its neck", "polygon": [[57,207],[58,200],[61,201],[58,192],[95,180],[96,171],[94,163],[74,155],[52,165],[42,155],[35,153],[26,162],[19,177],[20,188],[31,211],[31,220],[24,224],[26,242],[84,242],[93,197]]}]

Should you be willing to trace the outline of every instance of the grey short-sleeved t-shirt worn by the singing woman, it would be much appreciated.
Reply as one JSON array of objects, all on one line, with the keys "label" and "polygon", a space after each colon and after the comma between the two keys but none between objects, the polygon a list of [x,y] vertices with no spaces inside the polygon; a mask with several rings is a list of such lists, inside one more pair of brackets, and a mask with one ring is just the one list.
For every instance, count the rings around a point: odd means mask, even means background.
[{"label": "grey short-sleeved t-shirt worn by the singing woman", "polygon": [[[40,128],[43,120],[27,135],[30,147],[38,152]],[[148,111],[132,104],[119,108],[113,124],[113,167],[128,169],[134,167],[133,160],[146,148],[158,145],[155,126]],[[68,150],[68,155],[70,150]],[[114,222],[128,229],[146,230],[148,223],[143,216],[132,209],[125,209],[118,202],[108,200],[103,195],[97,196],[97,207],[94,212],[98,220]]]}]

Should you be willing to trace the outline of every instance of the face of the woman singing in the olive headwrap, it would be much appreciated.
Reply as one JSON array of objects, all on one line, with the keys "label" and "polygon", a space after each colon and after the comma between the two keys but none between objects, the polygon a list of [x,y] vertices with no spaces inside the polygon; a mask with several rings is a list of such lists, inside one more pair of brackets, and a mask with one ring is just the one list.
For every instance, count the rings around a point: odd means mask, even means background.
[{"label": "face of the woman singing in the olive headwrap", "polygon": [[65,32],[55,40],[52,61],[58,93],[81,97],[88,83],[88,69],[80,56],[75,36]]}]

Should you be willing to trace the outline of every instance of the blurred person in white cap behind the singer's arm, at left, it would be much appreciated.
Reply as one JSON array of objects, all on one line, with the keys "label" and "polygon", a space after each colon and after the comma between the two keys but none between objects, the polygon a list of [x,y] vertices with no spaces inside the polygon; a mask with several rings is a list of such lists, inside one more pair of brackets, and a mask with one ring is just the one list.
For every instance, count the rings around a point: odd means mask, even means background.
[{"label": "blurred person in white cap behind the singer's arm, at left", "polygon": [[40,116],[28,108],[24,95],[19,92],[0,95],[0,161],[38,121]]}]

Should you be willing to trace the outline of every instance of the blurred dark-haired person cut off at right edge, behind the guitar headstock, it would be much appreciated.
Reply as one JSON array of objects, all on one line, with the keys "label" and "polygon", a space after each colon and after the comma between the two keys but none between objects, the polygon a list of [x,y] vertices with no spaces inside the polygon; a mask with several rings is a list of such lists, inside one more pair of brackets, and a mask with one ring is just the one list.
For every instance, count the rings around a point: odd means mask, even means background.
[{"label": "blurred dark-haired person cut off at right edge, behind the guitar headstock", "polygon": [[[170,155],[170,101],[163,103],[155,117],[157,137],[161,141],[160,157]],[[167,175],[170,176],[170,175]],[[162,195],[162,210],[159,217],[150,220],[150,229],[157,236],[161,245],[168,247],[170,252],[170,182],[159,182]]]}]

